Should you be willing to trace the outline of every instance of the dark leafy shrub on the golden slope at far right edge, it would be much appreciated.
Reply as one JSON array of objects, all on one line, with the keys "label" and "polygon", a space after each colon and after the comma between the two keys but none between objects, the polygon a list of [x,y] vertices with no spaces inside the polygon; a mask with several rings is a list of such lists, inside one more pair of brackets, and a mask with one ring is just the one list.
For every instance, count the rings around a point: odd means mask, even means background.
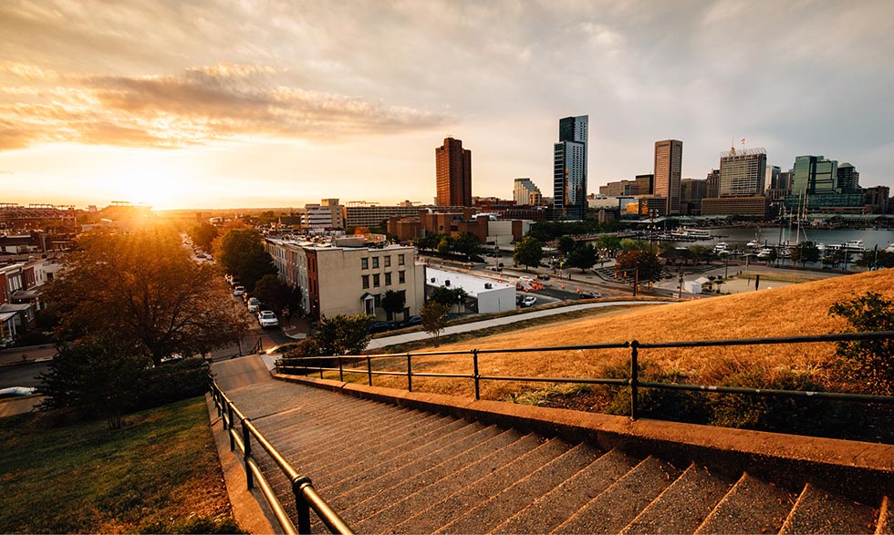
[{"label": "dark leafy shrub on the golden slope at far right edge", "polygon": [[[848,333],[894,331],[894,302],[880,293],[867,292],[844,303],[833,304],[829,315],[847,320]],[[838,342],[836,354],[845,376],[867,394],[894,395],[894,340]]]}]

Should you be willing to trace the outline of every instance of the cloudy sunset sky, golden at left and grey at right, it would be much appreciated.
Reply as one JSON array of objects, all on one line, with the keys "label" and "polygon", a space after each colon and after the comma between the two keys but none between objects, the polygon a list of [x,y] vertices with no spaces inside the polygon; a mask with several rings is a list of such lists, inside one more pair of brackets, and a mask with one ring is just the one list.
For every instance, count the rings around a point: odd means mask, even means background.
[{"label": "cloudy sunset sky, golden at left and grey at right", "polygon": [[0,2],[0,202],[288,207],[552,195],[558,119],[589,190],[683,141],[849,161],[894,187],[894,2]]}]

